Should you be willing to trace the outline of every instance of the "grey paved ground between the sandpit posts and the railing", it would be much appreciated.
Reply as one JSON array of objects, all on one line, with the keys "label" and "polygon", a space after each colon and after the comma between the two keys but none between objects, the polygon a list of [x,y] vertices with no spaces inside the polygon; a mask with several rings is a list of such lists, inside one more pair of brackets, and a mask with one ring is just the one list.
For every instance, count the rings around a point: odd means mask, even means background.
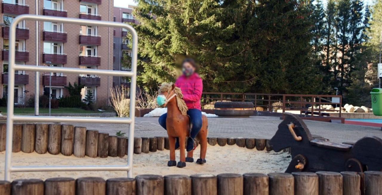
[{"label": "grey paved ground between the sandpit posts and the railing", "polygon": [[[249,117],[249,118],[208,118],[209,136],[215,137],[244,137],[270,139],[277,131],[282,121],[279,117]],[[135,125],[136,137],[167,136],[165,130],[158,124],[158,117],[137,117]],[[382,138],[382,131],[377,127],[365,127],[338,123],[304,120],[310,132],[328,138],[336,143],[355,142],[364,136]],[[72,123],[75,126],[99,130],[115,135],[116,132],[128,132],[129,125]]]}]

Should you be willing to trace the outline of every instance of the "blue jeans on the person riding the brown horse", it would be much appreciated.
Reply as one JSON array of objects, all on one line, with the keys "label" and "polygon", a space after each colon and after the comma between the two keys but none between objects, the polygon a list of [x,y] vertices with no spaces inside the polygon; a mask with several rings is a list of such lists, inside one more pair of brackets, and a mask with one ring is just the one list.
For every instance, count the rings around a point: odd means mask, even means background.
[{"label": "blue jeans on the person riding the brown horse", "polygon": [[[195,139],[197,133],[199,133],[200,129],[202,128],[202,111],[198,109],[189,109],[187,111],[187,115],[190,116],[191,123],[193,125],[190,132],[190,137]],[[164,129],[167,130],[166,119],[167,119],[167,113],[162,114],[162,116],[159,117],[159,124]]]}]

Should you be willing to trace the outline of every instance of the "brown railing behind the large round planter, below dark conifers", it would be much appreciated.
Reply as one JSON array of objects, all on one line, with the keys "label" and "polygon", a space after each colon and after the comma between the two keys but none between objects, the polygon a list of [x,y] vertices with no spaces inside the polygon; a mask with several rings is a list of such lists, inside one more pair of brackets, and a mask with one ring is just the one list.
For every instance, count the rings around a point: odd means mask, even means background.
[{"label": "brown railing behind the large round planter, below dark conifers", "polygon": [[[304,95],[304,94],[265,94],[265,93],[202,93],[202,107],[204,109],[213,109],[217,101],[248,101],[253,102],[254,110],[277,112],[277,110],[300,111],[300,114],[324,115],[323,111],[339,112],[340,117],[342,109],[324,109],[324,105],[340,107],[342,105],[342,96],[334,95]],[[262,111],[260,110],[260,111]]]}]

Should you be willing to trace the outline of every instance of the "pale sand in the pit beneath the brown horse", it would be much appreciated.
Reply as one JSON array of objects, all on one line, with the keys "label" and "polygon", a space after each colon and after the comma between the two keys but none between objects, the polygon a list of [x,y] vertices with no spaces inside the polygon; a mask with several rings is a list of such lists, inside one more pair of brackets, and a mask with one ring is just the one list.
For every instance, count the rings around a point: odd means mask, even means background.
[{"label": "pale sand in the pit beneath the brown horse", "polygon": [[[199,156],[198,147],[194,152],[194,160]],[[157,151],[149,154],[134,154],[133,174],[220,174],[247,172],[284,172],[291,158],[288,153],[275,153],[257,151],[256,149],[240,148],[233,146],[209,146],[207,148],[207,163],[203,165],[195,162],[187,162],[184,168],[168,167],[169,151]],[[77,158],[75,156],[63,156],[62,154],[37,154],[37,153],[13,153],[13,166],[54,166],[54,165],[120,165],[126,163],[125,158]],[[5,153],[0,153],[0,177],[4,174]],[[176,161],[179,161],[179,150],[176,151]],[[81,171],[81,172],[15,172],[11,174],[11,179],[39,178],[47,179],[50,177],[126,177],[124,171]]]}]

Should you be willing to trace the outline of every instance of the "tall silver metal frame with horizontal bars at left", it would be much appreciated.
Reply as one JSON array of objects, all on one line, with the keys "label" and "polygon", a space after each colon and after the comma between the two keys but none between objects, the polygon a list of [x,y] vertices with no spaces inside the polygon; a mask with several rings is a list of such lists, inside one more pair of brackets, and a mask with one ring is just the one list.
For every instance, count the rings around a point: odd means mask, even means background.
[{"label": "tall silver metal frame with horizontal bars at left", "polygon": [[[98,70],[98,69],[80,69],[80,68],[63,68],[63,67],[43,67],[36,65],[16,65],[15,64],[15,41],[16,41],[16,25],[23,20],[34,21],[50,21],[70,24],[107,26],[115,28],[124,28],[130,31],[133,36],[133,48],[131,59],[131,71],[117,70]],[[136,94],[136,78],[137,78],[137,51],[138,51],[138,35],[135,29],[129,24],[85,20],[78,18],[61,18],[53,16],[41,15],[20,15],[13,20],[10,25],[9,37],[9,67],[8,67],[8,104],[6,119],[6,150],[5,150],[5,180],[10,180],[11,172],[33,172],[33,171],[127,171],[128,177],[133,177],[133,147],[134,147],[134,116],[135,116],[135,94]],[[109,37],[110,39],[110,37]],[[107,118],[107,117],[48,117],[48,116],[25,116],[14,115],[14,91],[15,86],[15,70],[27,70],[34,72],[64,72],[91,75],[108,75],[108,76],[128,76],[131,77],[130,85],[130,117],[129,118]],[[133,95],[131,95],[133,94]],[[13,122],[79,122],[79,123],[120,123],[129,125],[129,141],[128,156],[126,165],[118,166],[12,166],[12,138],[13,138]]]}]

